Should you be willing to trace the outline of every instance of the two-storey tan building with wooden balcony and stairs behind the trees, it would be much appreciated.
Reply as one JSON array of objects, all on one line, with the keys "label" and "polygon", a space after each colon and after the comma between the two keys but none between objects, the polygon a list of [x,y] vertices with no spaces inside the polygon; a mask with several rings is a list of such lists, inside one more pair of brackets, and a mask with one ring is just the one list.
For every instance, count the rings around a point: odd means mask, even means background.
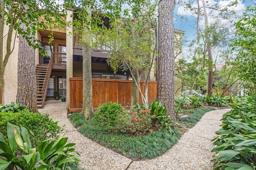
[{"label": "two-storey tan building with wooden balcony and stairs behind the trees", "polygon": [[[70,17],[73,13],[68,10],[66,21],[72,21]],[[74,16],[75,18],[76,16]],[[107,22],[107,20],[106,20]],[[40,55],[36,49],[36,80],[37,80],[37,100],[38,108],[43,107],[45,100],[55,100],[54,92],[59,92],[59,96],[67,96],[67,109],[70,104],[70,78],[82,77],[82,47],[78,35],[73,37],[67,32],[73,31],[71,28],[67,30],[55,30],[53,32],[54,40],[48,44],[50,31],[37,31],[36,38],[44,45],[49,57]],[[176,30],[178,37],[184,34],[184,31]],[[17,41],[17,40],[16,40]],[[107,64],[106,59],[109,55],[106,47],[102,49],[92,49],[92,78],[100,79],[116,79],[131,80],[128,71],[119,70],[113,73],[111,67]],[[50,57],[51,56],[51,57]],[[181,58],[181,53],[176,59]],[[17,68],[18,68],[18,43],[15,44],[14,53],[10,56],[10,60],[5,69],[4,74],[4,91],[2,92],[2,104],[9,104],[16,101],[17,95]],[[156,73],[152,69],[150,80],[156,80]],[[47,88],[47,90],[46,90]],[[47,91],[47,92],[46,92]]]}]

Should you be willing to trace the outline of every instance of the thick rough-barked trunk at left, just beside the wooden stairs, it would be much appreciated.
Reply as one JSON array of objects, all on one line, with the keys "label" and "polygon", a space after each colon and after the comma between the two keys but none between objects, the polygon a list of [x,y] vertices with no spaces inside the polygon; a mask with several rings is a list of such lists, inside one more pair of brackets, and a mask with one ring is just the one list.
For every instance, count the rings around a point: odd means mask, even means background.
[{"label": "thick rough-barked trunk at left, just beside the wooden stairs", "polygon": [[[27,29],[24,23],[20,27]],[[33,113],[38,113],[36,103],[35,50],[28,45],[28,42],[22,35],[19,38],[18,92],[16,102],[26,105]]]}]

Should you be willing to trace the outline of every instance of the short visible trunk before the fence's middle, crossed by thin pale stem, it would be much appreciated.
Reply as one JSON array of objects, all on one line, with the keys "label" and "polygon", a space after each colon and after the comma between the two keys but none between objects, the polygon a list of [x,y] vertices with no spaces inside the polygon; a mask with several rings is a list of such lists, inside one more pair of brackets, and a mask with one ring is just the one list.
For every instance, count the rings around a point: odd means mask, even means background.
[{"label": "short visible trunk before the fence's middle, crossed by thin pale stem", "polygon": [[133,67],[132,74],[134,76],[134,78],[132,78],[132,106],[133,106],[133,105],[139,104],[139,90],[136,86],[136,82],[140,82],[139,70]]}]

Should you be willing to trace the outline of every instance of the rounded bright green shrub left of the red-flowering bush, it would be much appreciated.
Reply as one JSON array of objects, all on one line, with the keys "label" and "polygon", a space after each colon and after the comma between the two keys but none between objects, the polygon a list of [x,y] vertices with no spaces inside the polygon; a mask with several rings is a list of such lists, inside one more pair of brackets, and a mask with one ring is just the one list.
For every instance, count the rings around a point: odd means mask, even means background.
[{"label": "rounded bright green shrub left of the red-flowering bush", "polygon": [[106,131],[113,131],[120,122],[118,115],[123,114],[121,104],[108,102],[99,106],[99,110],[94,113],[94,123],[103,127]]}]

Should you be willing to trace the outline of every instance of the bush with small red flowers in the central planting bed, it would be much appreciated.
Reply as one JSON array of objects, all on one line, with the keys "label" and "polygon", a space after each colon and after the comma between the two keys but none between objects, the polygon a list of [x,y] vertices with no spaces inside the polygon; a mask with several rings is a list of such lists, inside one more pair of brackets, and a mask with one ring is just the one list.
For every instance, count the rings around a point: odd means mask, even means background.
[{"label": "bush with small red flowers in the central planting bed", "polygon": [[152,117],[148,110],[133,107],[120,115],[119,130],[130,135],[143,135],[149,133],[152,127]]}]

